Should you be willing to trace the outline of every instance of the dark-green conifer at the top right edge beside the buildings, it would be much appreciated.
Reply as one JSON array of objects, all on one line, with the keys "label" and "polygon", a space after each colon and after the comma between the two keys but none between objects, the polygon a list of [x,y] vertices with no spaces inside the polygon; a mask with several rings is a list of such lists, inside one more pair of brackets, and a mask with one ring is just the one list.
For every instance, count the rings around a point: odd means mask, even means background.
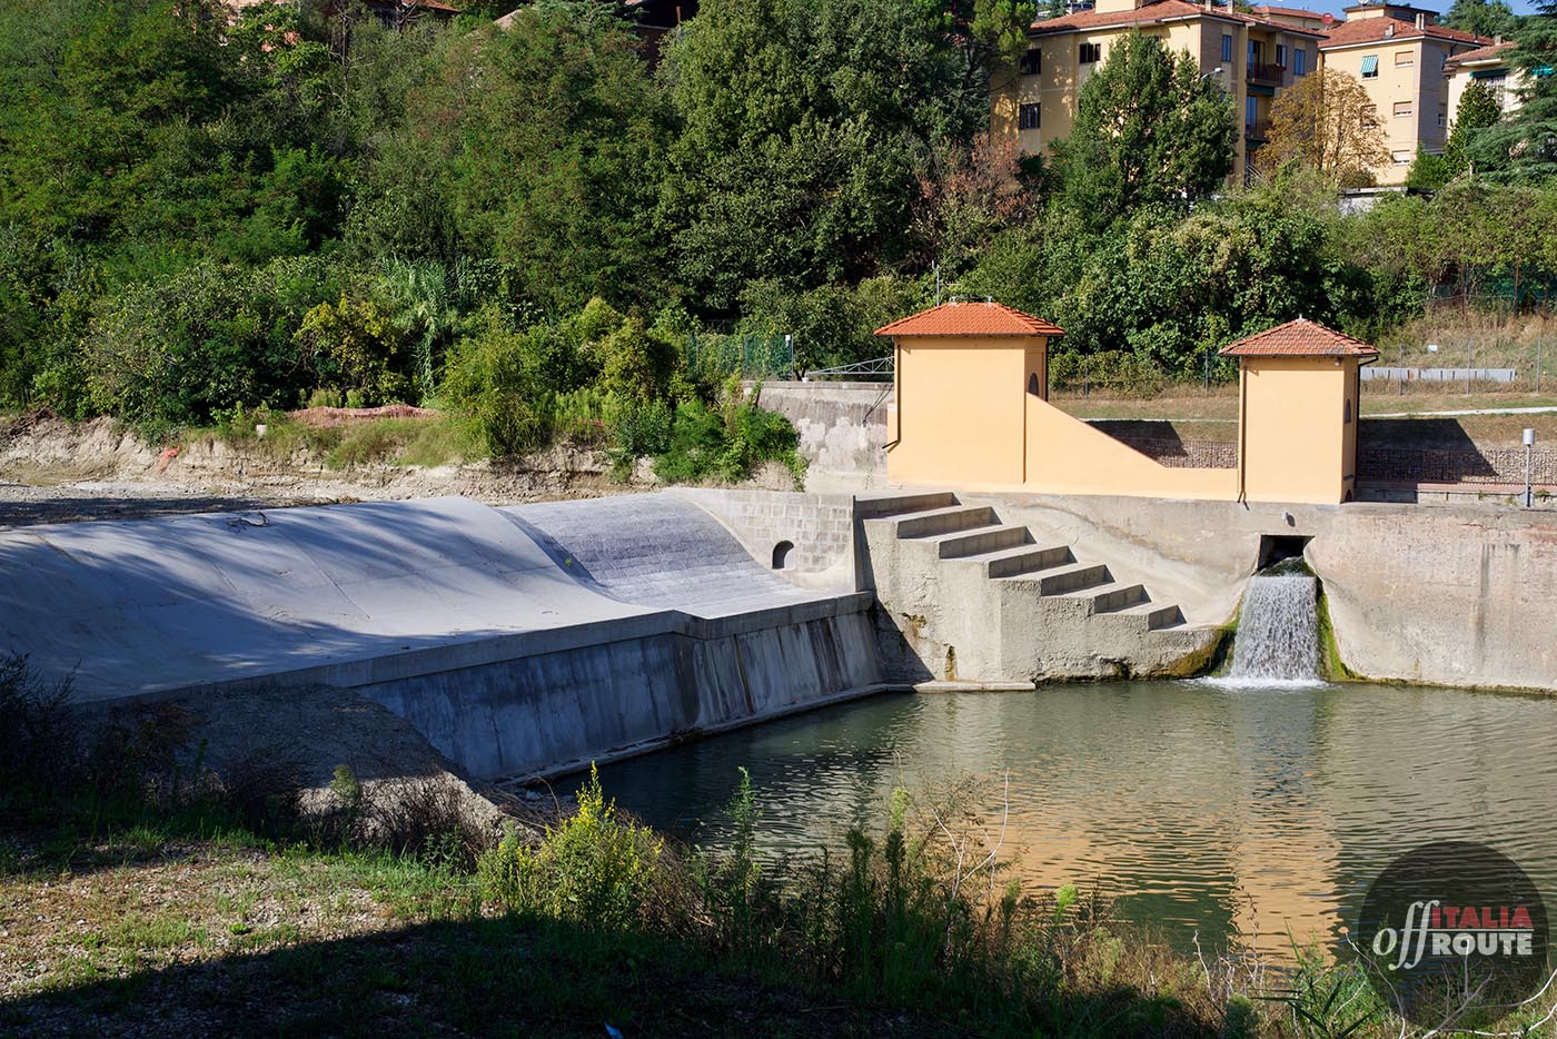
[{"label": "dark-green conifer at the top right edge beside the buildings", "polygon": [[1557,178],[1557,0],[1515,30],[1518,47],[1509,64],[1521,70],[1520,107],[1476,134],[1470,148],[1478,171],[1496,181],[1535,182]]}]

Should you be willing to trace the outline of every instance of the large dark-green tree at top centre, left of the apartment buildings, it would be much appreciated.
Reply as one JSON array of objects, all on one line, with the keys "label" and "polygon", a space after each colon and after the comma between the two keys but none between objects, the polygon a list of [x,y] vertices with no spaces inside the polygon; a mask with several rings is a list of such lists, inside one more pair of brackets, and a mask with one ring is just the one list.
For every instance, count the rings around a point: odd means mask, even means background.
[{"label": "large dark-green tree at top centre, left of the apartment buildings", "polygon": [[[897,0],[708,0],[665,50],[682,128],[659,224],[694,307],[743,287],[856,282],[911,249],[916,153],[967,140],[987,95]],[[976,104],[975,104],[976,101]]]}]

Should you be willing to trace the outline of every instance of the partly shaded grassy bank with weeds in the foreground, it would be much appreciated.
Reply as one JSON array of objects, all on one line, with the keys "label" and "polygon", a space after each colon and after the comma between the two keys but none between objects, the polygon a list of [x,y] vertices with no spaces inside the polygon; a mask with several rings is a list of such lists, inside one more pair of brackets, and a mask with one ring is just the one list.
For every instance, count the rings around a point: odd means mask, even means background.
[{"label": "partly shaded grassy bank with weeds in the foreground", "polygon": [[215,776],[174,718],[78,740],[0,673],[0,1033],[1401,1034],[1353,967],[1174,953],[1007,880],[978,791],[894,791],[816,855],[685,847],[590,777],[500,840],[447,805]]}]

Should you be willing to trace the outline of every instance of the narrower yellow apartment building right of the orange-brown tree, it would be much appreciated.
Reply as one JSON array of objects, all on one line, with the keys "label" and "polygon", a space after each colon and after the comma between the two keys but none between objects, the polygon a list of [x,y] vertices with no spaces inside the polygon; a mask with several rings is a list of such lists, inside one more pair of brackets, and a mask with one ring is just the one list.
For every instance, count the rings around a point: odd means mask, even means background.
[{"label": "narrower yellow apartment building right of the orange-brown tree", "polygon": [[1390,154],[1373,170],[1381,185],[1406,182],[1418,146],[1443,151],[1454,112],[1448,62],[1492,42],[1436,22],[1437,14],[1422,8],[1358,5],[1320,45],[1325,69],[1359,79],[1378,109]]}]

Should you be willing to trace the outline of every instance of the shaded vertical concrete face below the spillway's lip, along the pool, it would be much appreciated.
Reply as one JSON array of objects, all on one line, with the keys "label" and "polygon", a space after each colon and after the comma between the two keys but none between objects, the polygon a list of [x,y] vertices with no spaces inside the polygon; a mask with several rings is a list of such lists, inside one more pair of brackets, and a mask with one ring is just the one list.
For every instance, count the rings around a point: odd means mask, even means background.
[{"label": "shaded vertical concrete face below the spillway's lip, along the pool", "polygon": [[357,692],[411,721],[467,774],[565,773],[883,689],[870,597],[821,615],[684,622]]}]

